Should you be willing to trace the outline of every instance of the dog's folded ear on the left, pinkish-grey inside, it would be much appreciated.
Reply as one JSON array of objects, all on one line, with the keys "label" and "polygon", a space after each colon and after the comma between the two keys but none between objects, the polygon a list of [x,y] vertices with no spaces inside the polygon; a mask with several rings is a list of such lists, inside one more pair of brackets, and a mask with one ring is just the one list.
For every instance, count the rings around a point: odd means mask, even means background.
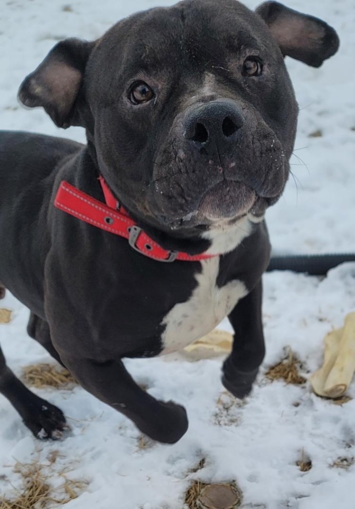
[{"label": "dog's folded ear on the left, pinkish-grey inside", "polygon": [[94,44],[80,39],[65,39],[56,44],[22,82],[19,100],[31,108],[42,106],[58,127],[80,125],[74,120],[75,101]]}]

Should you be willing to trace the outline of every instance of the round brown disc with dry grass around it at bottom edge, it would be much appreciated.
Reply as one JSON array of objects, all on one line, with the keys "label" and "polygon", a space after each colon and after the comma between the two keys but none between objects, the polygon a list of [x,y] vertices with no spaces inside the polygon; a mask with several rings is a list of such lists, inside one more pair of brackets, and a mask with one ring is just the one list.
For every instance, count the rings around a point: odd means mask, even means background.
[{"label": "round brown disc with dry grass around it at bottom edge", "polygon": [[206,484],[195,480],[185,496],[189,509],[234,509],[241,501],[242,493],[234,481]]}]

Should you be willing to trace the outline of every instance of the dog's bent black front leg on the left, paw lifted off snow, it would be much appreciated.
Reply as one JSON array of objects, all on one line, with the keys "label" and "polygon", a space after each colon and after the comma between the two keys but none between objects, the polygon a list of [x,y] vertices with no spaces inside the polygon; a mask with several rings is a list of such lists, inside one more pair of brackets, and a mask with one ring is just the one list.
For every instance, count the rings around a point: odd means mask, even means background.
[{"label": "dog's bent black front leg on the left, paw lifted off snow", "polygon": [[87,391],[133,420],[148,437],[174,443],[187,431],[185,408],[150,396],[136,384],[121,360],[97,363],[62,354],[61,358]]}]

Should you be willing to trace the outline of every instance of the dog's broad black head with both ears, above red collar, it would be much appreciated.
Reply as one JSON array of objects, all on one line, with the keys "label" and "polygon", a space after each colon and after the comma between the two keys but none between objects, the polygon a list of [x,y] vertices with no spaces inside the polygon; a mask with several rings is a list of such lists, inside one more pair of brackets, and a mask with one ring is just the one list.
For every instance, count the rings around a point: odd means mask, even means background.
[{"label": "dog's broad black head with both ears, above red collar", "polygon": [[258,220],[289,173],[297,103],[284,56],[319,67],[323,21],[276,2],[185,0],[57,44],[19,98],[81,125],[99,171],[136,217],[189,232]]}]

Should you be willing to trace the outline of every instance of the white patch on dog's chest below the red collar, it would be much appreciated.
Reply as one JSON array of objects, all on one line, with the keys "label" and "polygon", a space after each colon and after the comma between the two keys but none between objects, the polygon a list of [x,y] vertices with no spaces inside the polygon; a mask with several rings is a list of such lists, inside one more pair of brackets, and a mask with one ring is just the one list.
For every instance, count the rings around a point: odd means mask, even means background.
[{"label": "white patch on dog's chest below the red collar", "polygon": [[217,286],[219,257],[201,262],[202,271],[195,275],[197,286],[186,302],[175,304],[162,321],[162,354],[180,350],[207,334],[232,311],[247,294],[244,283],[232,280]]}]

